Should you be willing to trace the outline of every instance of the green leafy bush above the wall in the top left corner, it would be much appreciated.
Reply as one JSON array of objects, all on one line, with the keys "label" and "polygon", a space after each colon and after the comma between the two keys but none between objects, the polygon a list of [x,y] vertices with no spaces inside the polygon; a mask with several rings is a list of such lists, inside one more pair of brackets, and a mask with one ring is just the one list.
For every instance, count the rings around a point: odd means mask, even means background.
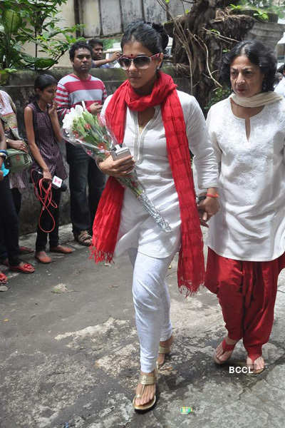
[{"label": "green leafy bush above the wall in the top left corner", "polygon": [[[76,41],[82,26],[59,27],[58,6],[68,0],[0,0],[0,68],[46,70]],[[24,44],[35,45],[34,56]]]}]

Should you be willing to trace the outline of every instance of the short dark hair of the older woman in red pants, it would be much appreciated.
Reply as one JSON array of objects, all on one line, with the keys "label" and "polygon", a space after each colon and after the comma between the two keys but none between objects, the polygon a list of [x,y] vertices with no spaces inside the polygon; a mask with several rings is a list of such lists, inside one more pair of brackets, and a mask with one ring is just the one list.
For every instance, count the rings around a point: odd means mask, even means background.
[{"label": "short dark hair of the older woman in red pants", "polygon": [[259,66],[264,74],[261,92],[274,91],[274,79],[276,73],[276,58],[273,52],[258,40],[240,41],[234,48],[222,58],[220,76],[224,83],[231,87],[230,66],[234,58],[245,55],[249,61]]}]

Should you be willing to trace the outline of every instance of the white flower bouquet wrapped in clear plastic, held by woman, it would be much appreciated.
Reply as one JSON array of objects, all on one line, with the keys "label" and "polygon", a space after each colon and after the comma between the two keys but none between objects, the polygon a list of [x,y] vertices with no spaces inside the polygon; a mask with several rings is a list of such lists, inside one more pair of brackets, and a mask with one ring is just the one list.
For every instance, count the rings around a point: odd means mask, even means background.
[{"label": "white flower bouquet wrapped in clear plastic, held by woman", "polygon": [[[89,113],[82,106],[71,108],[70,113],[63,118],[63,137],[74,146],[81,146],[88,156],[99,162],[108,158],[116,145],[115,137],[103,125],[100,118]],[[162,230],[165,232],[171,230],[170,225],[147,197],[135,170],[128,177],[116,177],[116,180],[133,192]]]}]

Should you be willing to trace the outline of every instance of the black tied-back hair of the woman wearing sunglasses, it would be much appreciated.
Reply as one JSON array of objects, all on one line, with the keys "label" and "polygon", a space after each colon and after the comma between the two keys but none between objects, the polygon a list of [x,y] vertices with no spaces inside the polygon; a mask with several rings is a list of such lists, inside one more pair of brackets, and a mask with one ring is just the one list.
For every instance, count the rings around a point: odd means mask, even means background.
[{"label": "black tied-back hair of the woman wearing sunglasses", "polygon": [[139,41],[152,54],[165,52],[168,36],[160,24],[151,24],[144,21],[133,21],[125,29],[120,46],[123,50],[129,41]]}]

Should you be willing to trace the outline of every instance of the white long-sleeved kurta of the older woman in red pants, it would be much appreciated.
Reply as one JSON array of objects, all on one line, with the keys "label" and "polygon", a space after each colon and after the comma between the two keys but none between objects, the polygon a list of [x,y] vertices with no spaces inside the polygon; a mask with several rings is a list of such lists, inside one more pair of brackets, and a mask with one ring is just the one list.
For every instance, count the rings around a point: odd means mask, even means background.
[{"label": "white long-sleeved kurta of the older woman in red pants", "polygon": [[285,250],[285,100],[245,120],[229,98],[210,108],[207,128],[219,162],[221,208],[209,247],[235,260],[274,260]]}]

